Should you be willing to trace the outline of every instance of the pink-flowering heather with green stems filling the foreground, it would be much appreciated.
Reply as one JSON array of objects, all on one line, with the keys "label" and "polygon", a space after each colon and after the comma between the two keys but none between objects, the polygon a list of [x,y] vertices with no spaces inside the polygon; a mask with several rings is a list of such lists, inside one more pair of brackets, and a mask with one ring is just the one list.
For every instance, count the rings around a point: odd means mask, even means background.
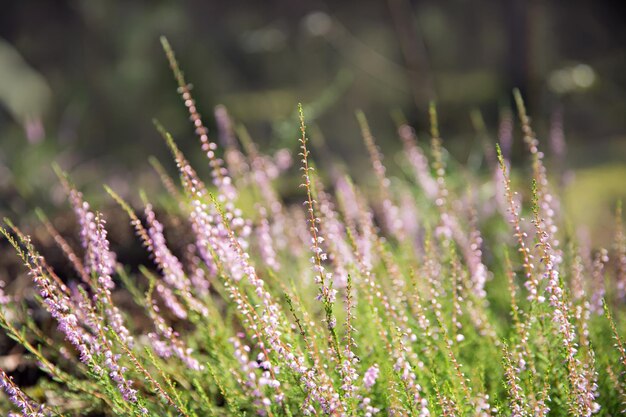
[{"label": "pink-flowering heather with green stems filling the foreground", "polygon": [[[376,181],[370,187],[338,167],[318,174],[302,106],[296,163],[286,151],[263,154],[223,107],[215,111],[218,149],[165,39],[163,46],[211,180],[155,122],[180,185],[151,163],[175,204],[160,207],[140,193],[142,206],[133,207],[106,187],[152,260],[138,271],[117,261],[103,214],[60,169],[80,248],[38,214],[73,274],[57,274],[5,220],[0,232],[37,295],[0,287],[0,325],[43,374],[20,387],[0,370],[6,414],[624,411],[621,206],[614,242],[592,250],[576,239],[519,93],[527,178],[512,176],[510,114],[485,180],[450,164],[432,106],[430,145],[398,126],[403,174],[395,178],[357,113]],[[296,168],[302,205],[276,186]],[[166,224],[186,228],[184,241],[168,239]],[[134,306],[123,308],[120,294]]]}]

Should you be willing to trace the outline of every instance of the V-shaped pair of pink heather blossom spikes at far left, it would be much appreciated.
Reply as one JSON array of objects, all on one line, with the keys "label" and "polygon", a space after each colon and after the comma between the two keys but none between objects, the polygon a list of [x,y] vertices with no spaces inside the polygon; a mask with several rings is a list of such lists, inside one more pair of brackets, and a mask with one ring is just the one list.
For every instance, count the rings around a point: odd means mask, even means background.
[{"label": "V-shaped pair of pink heather blossom spikes at far left", "polygon": [[[19,243],[4,229],[2,232],[22,256],[39,289],[44,307],[57,321],[65,339],[76,348],[80,361],[100,377],[103,377],[106,370],[124,400],[137,403],[137,390],[132,387],[133,381],[126,377],[127,368],[119,364],[121,355],[113,352],[113,342],[107,336],[110,329],[122,343],[129,345],[133,341],[119,309],[111,300],[110,291],[114,284],[110,274],[114,265],[104,231],[104,221],[100,215],[89,211],[89,206],[82,202],[80,193],[70,189],[70,196],[75,203],[79,222],[86,228],[82,238],[85,265],[88,265],[90,274],[94,277],[90,286],[94,292],[93,300],[84,296],[85,289],[72,293],[35,251],[30,238],[19,229],[12,227]],[[107,321],[97,314],[96,310],[100,307],[103,308]],[[81,322],[79,317],[83,319]]]}]

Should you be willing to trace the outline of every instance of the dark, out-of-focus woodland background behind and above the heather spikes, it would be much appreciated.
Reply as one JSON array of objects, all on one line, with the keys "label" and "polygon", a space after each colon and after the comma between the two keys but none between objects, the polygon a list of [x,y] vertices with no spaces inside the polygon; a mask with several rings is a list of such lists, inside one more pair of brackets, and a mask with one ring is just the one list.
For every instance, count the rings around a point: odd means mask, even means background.
[{"label": "dark, out-of-focus woodland background behind and above the heather spikes", "polygon": [[[153,118],[206,165],[159,43],[165,35],[213,132],[213,109],[224,104],[262,149],[295,150],[301,101],[315,135],[352,167],[368,166],[355,110],[392,159],[392,115],[404,114],[424,140],[436,100],[445,146],[480,170],[480,137],[495,143],[517,87],[544,148],[564,155],[573,219],[610,228],[626,197],[621,3],[3,0],[0,214],[67,210],[53,161],[96,201],[105,182],[122,194],[156,188],[148,157],[169,156]],[[561,126],[566,147],[550,148]],[[514,162],[523,161],[519,127],[515,140]]]}]

